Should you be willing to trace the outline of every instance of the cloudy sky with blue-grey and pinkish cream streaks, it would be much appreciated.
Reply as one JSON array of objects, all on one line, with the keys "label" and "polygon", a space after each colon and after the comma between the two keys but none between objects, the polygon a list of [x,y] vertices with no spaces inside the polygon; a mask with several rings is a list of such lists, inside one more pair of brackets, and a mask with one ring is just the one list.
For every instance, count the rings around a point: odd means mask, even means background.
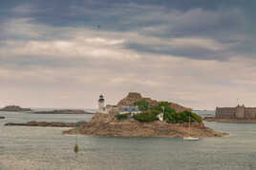
[{"label": "cloudy sky with blue-grey and pinkish cream streaks", "polygon": [[[256,106],[254,0],[1,0],[0,106],[96,108],[129,91]],[[237,100],[239,99],[239,100]]]}]

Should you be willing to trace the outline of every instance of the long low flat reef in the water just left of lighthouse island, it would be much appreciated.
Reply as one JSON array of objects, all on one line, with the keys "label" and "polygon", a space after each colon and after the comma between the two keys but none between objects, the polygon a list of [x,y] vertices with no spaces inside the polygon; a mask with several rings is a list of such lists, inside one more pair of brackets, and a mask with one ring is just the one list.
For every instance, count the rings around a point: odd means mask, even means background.
[{"label": "long low flat reef in the water just left of lighthouse island", "polygon": [[58,123],[58,122],[28,122],[28,123],[6,123],[5,125],[21,125],[21,126],[41,126],[41,127],[76,127],[86,122],[79,123]]}]

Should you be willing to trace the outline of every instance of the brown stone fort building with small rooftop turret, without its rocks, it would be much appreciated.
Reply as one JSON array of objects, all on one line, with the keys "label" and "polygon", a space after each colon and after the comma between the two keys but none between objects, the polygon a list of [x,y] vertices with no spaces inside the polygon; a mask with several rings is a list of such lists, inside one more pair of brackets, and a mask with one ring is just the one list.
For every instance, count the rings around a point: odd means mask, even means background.
[{"label": "brown stone fort building with small rooftop turret, without its rocks", "polygon": [[244,104],[238,104],[236,107],[216,107],[215,118],[239,120],[256,119],[256,107],[245,107]]}]

